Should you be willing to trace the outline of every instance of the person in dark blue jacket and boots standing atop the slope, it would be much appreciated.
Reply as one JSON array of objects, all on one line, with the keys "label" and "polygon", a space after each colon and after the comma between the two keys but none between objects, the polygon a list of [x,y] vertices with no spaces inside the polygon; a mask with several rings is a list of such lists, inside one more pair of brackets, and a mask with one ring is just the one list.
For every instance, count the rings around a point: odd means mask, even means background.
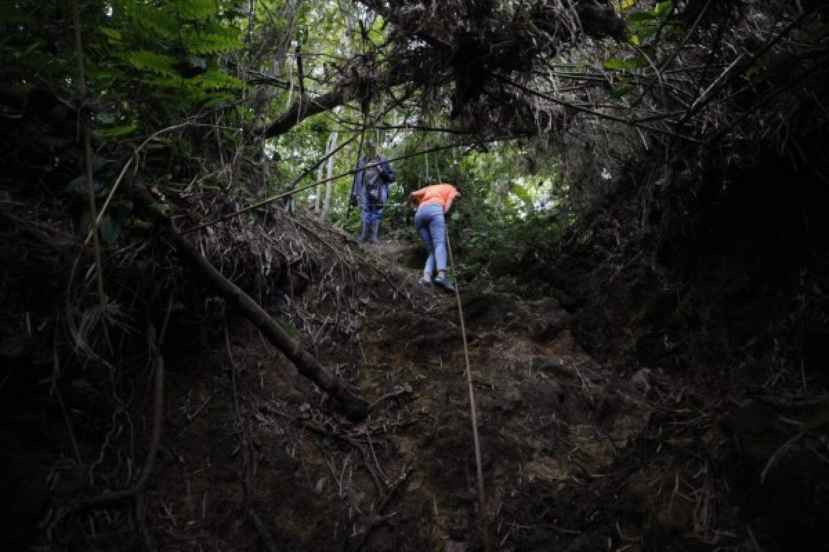
[{"label": "person in dark blue jacket and boots standing atop the slope", "polygon": [[366,156],[357,160],[354,184],[351,186],[351,205],[360,205],[361,226],[357,241],[379,243],[377,232],[383,219],[383,208],[389,199],[389,185],[397,180],[389,158],[376,153],[376,147],[369,142]]}]

